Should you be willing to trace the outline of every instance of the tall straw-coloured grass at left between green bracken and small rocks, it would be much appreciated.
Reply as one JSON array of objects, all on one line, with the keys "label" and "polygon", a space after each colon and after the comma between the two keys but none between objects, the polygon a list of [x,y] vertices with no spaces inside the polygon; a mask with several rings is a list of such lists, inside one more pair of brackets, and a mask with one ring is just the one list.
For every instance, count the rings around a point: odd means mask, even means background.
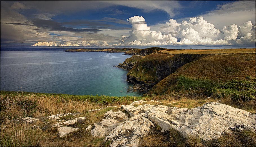
[{"label": "tall straw-coloured grass at left between green bracken and small rocks", "polygon": [[22,94],[17,95],[1,95],[1,119],[4,118],[23,118],[27,117],[30,110],[22,108],[18,102],[21,100],[31,100],[36,105],[33,108],[31,116],[39,118],[42,116],[51,116],[59,113],[71,113],[71,112],[86,112],[90,109],[99,109],[105,107],[103,104],[97,104],[89,100],[67,100],[63,98],[56,98],[50,96],[37,96],[29,94],[23,96]]}]

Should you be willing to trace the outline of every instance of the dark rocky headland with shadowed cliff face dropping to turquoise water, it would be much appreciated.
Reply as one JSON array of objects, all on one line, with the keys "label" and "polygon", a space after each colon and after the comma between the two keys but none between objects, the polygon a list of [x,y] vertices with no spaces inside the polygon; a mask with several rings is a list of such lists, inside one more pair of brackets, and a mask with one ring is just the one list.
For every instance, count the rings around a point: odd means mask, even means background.
[{"label": "dark rocky headland with shadowed cliff face dropping to turquoise water", "polygon": [[145,93],[159,81],[174,73],[179,67],[201,59],[202,54],[150,54],[138,61],[127,74],[127,81],[135,84],[138,91]]}]

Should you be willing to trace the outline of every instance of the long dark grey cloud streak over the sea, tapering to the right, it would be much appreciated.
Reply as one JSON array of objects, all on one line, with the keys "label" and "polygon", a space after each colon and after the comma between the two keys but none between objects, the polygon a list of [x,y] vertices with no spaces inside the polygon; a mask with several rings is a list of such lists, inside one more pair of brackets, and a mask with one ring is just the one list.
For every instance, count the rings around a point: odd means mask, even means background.
[{"label": "long dark grey cloud streak over the sea, tapering to the right", "polygon": [[98,32],[99,29],[75,29],[70,27],[64,27],[62,23],[52,20],[34,20],[32,21],[34,26],[49,29],[51,31],[69,31],[69,32]]}]

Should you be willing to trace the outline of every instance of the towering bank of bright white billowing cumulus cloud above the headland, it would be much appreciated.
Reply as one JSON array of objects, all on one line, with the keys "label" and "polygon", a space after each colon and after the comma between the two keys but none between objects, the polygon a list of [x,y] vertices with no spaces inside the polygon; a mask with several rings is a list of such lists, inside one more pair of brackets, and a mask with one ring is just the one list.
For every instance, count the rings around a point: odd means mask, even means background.
[{"label": "towering bank of bright white billowing cumulus cloud above the headland", "polygon": [[255,45],[255,25],[251,21],[242,26],[224,26],[221,31],[203,17],[193,17],[177,23],[170,19],[161,31],[150,31],[142,16],[127,19],[132,24],[130,36],[120,39],[114,45]]}]

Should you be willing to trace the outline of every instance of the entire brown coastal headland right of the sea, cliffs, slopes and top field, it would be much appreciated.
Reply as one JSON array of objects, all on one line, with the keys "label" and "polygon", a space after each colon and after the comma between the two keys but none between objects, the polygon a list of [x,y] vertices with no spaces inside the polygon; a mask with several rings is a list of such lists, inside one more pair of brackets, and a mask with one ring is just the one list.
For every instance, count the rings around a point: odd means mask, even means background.
[{"label": "entire brown coastal headland right of the sea, cliffs, slopes and top field", "polygon": [[133,56],[117,67],[130,69],[127,81],[134,83],[137,91],[147,94],[187,89],[205,91],[232,79],[255,77],[255,49],[148,48],[129,52],[143,58],[129,62]]}]

